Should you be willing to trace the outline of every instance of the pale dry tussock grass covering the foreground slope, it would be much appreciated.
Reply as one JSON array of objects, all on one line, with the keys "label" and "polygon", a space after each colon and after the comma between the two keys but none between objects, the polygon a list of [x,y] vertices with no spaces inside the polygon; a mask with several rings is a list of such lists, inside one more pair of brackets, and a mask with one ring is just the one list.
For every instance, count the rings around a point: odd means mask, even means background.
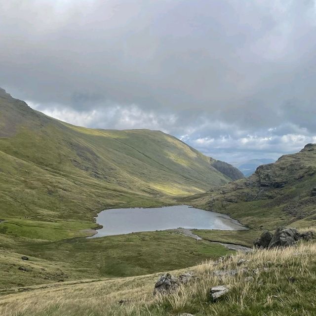
[{"label": "pale dry tussock grass covering the foreground slope", "polygon": [[[243,258],[248,262],[238,266]],[[243,270],[246,269],[247,270]],[[214,275],[214,270],[237,269],[236,276]],[[259,270],[258,270],[259,269]],[[188,270],[178,270],[181,274]],[[2,316],[165,316],[179,313],[212,316],[316,315],[316,244],[302,242],[286,249],[255,250],[227,256],[190,269],[197,279],[169,295],[153,296],[158,274],[118,279],[86,280],[2,296]],[[245,272],[246,271],[246,272]],[[246,281],[246,276],[252,276]],[[212,286],[230,284],[231,290],[212,302]],[[131,301],[118,304],[121,299]]]}]

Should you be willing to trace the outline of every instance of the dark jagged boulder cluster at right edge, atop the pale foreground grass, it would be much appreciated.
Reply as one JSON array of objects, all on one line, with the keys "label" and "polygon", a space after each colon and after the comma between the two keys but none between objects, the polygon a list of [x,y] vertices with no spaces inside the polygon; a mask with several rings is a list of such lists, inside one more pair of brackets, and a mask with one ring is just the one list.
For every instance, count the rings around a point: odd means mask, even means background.
[{"label": "dark jagged boulder cluster at right edge, atop the pale foreground grass", "polygon": [[314,238],[312,231],[300,234],[296,228],[279,227],[275,234],[264,231],[259,239],[254,241],[254,245],[258,248],[275,248],[287,247],[295,244],[298,240],[311,240]]}]

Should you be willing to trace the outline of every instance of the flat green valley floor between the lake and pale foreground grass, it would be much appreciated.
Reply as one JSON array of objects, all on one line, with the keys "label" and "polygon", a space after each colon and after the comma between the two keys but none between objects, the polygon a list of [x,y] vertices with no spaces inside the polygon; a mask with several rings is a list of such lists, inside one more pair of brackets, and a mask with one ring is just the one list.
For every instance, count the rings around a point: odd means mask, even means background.
[{"label": "flat green valley floor between the lake and pale foreground grass", "polygon": [[[0,293],[11,288],[82,278],[139,276],[194,266],[232,253],[210,242],[233,240],[252,246],[256,231],[194,231],[196,240],[174,231],[142,232],[86,239],[40,241],[0,235]],[[218,235],[217,235],[218,234]],[[215,237],[217,236],[217,237]],[[28,261],[21,259],[29,257]],[[19,270],[20,267],[28,271]]]}]

